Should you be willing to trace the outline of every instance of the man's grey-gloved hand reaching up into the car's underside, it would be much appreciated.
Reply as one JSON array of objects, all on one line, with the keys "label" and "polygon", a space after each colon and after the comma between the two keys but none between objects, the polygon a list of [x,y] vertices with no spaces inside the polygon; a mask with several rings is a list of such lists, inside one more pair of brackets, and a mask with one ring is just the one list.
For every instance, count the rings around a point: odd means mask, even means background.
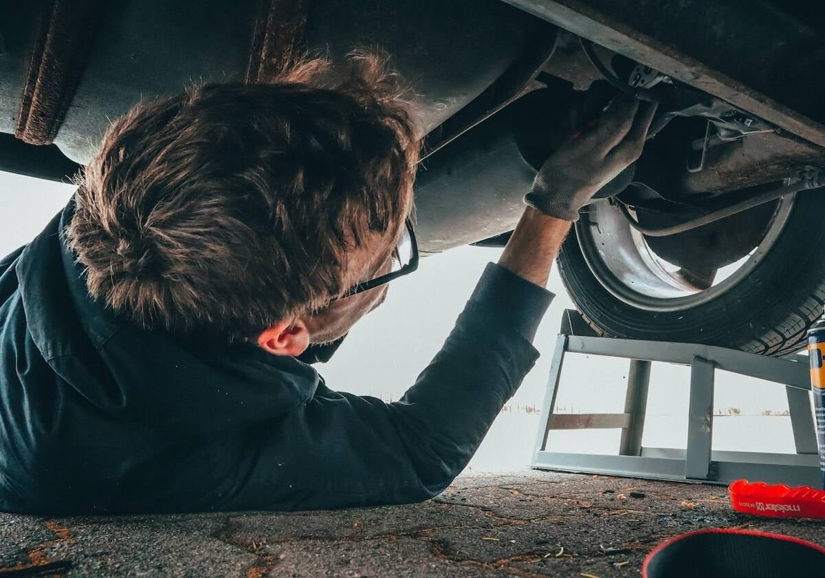
[{"label": "man's grey-gloved hand reaching up into the car's underside", "polygon": [[615,97],[590,128],[550,155],[524,197],[544,215],[578,220],[596,192],[639,159],[656,105]]}]

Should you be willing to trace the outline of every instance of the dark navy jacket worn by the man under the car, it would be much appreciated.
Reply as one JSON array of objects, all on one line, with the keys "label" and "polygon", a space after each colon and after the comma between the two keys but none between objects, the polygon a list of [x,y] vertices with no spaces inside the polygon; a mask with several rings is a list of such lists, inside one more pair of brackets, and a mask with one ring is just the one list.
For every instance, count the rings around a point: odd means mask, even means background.
[{"label": "dark navy jacket worn by the man under the car", "polygon": [[537,358],[551,294],[493,264],[391,404],[331,391],[312,366],[252,345],[139,329],[87,296],[62,235],[72,207],[0,260],[0,510],[424,500],[469,462]]}]

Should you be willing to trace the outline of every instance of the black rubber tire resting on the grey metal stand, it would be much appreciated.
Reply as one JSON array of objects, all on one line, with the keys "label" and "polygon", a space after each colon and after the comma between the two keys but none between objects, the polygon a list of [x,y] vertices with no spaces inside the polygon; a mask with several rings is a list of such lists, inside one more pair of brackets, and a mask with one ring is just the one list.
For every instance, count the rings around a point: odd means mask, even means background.
[{"label": "black rubber tire resting on the grey metal stand", "polygon": [[825,303],[825,191],[802,192],[771,248],[747,277],[709,301],[652,311],[620,300],[599,281],[571,234],[559,253],[564,286],[598,334],[706,343],[782,356],[804,347]]}]

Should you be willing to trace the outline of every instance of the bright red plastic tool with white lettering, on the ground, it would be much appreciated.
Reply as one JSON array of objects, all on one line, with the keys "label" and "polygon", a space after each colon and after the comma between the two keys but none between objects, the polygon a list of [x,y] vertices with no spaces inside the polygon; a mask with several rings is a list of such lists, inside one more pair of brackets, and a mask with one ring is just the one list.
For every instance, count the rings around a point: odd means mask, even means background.
[{"label": "bright red plastic tool with white lettering, on the ground", "polygon": [[737,480],[728,487],[728,494],[733,509],[744,514],[825,519],[825,490]]}]

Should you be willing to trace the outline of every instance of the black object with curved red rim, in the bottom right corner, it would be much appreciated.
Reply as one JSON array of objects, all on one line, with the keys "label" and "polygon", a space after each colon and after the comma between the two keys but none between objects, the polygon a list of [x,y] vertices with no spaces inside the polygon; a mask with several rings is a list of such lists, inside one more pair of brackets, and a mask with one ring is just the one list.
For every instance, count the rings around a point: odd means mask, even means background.
[{"label": "black object with curved red rim, in the bottom right corner", "polygon": [[662,542],[642,578],[799,578],[825,576],[825,547],[782,534],[710,528]]}]

